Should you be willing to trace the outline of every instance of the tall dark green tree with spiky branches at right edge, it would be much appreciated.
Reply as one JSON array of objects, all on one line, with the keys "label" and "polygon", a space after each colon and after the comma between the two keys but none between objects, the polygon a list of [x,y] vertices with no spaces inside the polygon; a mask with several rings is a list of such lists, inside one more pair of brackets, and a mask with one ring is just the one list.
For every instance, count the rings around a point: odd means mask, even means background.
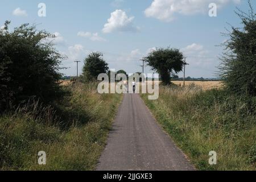
[{"label": "tall dark green tree with spiky branches at right edge", "polygon": [[232,31],[224,34],[229,39],[222,44],[225,52],[221,57],[220,77],[230,92],[256,96],[256,16],[248,3],[248,14],[240,9],[236,12],[243,28],[232,27]]}]

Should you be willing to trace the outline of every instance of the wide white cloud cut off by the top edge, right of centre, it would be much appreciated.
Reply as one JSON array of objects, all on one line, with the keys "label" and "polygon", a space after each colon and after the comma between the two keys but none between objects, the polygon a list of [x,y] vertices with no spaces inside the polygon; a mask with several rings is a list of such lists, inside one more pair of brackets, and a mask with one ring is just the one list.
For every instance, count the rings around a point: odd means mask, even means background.
[{"label": "wide white cloud cut off by the top edge, right of centre", "polygon": [[216,3],[217,7],[221,8],[229,2],[240,3],[241,0],[154,0],[144,14],[147,17],[170,22],[175,19],[175,14],[206,13],[209,11],[210,3]]}]

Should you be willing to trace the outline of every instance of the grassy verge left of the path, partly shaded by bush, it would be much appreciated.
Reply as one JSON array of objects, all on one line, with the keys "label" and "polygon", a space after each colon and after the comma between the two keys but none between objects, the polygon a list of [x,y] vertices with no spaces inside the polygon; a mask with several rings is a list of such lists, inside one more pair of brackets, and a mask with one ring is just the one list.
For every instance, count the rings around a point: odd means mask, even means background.
[{"label": "grassy verge left of the path, partly shaded by bush", "polygon": [[[0,116],[0,169],[93,170],[121,95],[98,94],[96,84],[67,86],[53,107],[37,102]],[[45,151],[47,165],[38,165]]]}]

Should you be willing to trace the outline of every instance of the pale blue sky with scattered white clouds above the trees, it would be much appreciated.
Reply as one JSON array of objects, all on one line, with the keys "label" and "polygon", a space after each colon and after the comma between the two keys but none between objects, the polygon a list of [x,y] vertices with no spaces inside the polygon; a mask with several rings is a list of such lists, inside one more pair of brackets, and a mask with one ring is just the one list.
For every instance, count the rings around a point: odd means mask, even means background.
[{"label": "pale blue sky with scattered white clouds above the trees", "polygon": [[[216,3],[217,17],[208,15],[209,3]],[[46,17],[38,16],[38,4],[45,3]],[[256,2],[251,1],[253,7]],[[225,27],[240,27],[236,7],[247,11],[246,0],[1,0],[0,27],[38,24],[56,35],[56,48],[68,56],[65,75],[76,75],[75,60],[90,51],[101,51],[110,69],[128,73],[142,71],[141,59],[155,47],[179,48],[189,63],[187,76],[215,77]],[[81,73],[82,63],[80,64]],[[152,73],[146,67],[146,73]],[[180,76],[182,73],[179,74]]]}]

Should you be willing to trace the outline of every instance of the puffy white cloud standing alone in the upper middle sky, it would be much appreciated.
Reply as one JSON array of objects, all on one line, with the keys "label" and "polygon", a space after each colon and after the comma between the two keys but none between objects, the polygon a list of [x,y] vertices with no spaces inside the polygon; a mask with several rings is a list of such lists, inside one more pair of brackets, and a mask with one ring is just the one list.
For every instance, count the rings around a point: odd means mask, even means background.
[{"label": "puffy white cloud standing alone in the upper middle sky", "polygon": [[102,31],[106,34],[113,31],[138,31],[139,27],[134,26],[133,19],[134,16],[128,17],[125,11],[115,10],[111,13]]}]

